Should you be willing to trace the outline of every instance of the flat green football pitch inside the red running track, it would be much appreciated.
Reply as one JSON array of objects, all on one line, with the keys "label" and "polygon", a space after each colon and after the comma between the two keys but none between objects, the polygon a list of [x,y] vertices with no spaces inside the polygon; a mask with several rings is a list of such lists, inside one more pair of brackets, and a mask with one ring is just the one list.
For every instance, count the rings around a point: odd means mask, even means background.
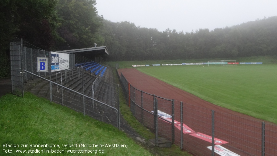
[{"label": "flat green football pitch inside the red running track", "polygon": [[218,106],[277,124],[277,65],[180,65],[139,71]]}]

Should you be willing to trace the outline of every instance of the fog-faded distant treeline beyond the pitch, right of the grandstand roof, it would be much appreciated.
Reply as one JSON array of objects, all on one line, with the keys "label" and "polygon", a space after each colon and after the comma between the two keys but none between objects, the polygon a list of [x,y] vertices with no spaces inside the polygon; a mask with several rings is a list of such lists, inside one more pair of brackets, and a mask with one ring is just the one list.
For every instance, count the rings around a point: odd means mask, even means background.
[{"label": "fog-faded distant treeline beyond the pitch, right of the grandstand roof", "polygon": [[194,32],[159,32],[127,21],[103,20],[100,32],[113,61],[277,55],[277,16]]}]

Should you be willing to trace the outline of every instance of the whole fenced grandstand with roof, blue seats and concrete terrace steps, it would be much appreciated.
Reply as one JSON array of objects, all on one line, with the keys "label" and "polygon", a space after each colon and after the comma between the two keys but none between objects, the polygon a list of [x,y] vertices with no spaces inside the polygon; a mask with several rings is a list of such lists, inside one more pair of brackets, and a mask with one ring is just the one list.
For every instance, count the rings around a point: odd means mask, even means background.
[{"label": "whole fenced grandstand with roof, blue seats and concrete terrace steps", "polygon": [[[106,47],[45,51],[21,40],[10,54],[13,94],[29,91],[119,128],[113,69],[101,64]],[[37,58],[49,58],[48,71],[37,70]]]}]

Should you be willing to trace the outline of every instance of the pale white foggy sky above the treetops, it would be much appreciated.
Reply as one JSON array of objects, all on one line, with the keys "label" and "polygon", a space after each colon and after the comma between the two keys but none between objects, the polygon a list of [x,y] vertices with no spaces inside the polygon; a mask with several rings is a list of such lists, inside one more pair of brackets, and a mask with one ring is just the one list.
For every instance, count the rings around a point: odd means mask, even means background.
[{"label": "pale white foggy sky above the treetops", "polygon": [[112,22],[177,32],[231,27],[277,15],[276,0],[96,0],[98,15]]}]

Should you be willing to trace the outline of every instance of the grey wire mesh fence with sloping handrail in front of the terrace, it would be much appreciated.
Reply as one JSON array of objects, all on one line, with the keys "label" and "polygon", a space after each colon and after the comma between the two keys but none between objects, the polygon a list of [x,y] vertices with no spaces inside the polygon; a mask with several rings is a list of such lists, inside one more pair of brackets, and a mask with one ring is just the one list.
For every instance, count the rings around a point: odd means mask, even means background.
[{"label": "grey wire mesh fence with sloping handrail in front of the terrace", "polygon": [[[24,96],[24,91],[29,91],[120,129],[118,102],[107,98],[110,97],[108,92],[115,89],[114,84],[107,82],[109,77],[95,75],[83,66],[77,67],[73,55],[69,55],[69,60],[59,58],[59,62],[68,64],[60,64],[59,70],[51,71],[51,52],[22,39],[10,43],[10,57],[13,94]],[[40,57],[48,58],[47,72],[37,71],[37,58]]]}]

